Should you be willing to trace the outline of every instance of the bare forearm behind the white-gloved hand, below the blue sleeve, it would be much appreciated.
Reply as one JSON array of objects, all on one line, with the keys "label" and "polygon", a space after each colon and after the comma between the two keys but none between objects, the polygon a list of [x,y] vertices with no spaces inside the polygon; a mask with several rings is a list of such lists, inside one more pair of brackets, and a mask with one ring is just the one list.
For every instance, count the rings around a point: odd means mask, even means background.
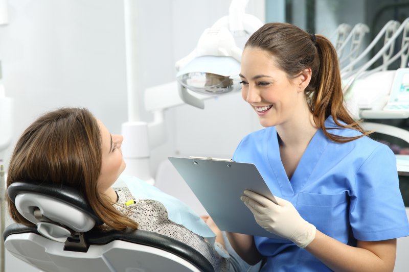
[{"label": "bare forearm behind the white-gloved hand, below the blue sleeve", "polygon": [[358,246],[339,242],[320,231],[305,248],[334,271],[393,271],[396,239],[377,242],[358,241]]}]

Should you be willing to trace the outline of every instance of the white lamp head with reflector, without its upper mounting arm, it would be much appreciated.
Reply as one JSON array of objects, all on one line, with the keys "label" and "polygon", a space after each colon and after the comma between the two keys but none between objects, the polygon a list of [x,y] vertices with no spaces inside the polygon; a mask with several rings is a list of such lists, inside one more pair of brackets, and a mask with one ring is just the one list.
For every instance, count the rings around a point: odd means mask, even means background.
[{"label": "white lamp head with reflector, without its upper mounting arm", "polygon": [[206,29],[195,50],[176,63],[176,80],[182,100],[203,109],[203,101],[188,90],[207,95],[240,90],[241,53],[242,50],[236,46],[236,41],[227,28]]}]

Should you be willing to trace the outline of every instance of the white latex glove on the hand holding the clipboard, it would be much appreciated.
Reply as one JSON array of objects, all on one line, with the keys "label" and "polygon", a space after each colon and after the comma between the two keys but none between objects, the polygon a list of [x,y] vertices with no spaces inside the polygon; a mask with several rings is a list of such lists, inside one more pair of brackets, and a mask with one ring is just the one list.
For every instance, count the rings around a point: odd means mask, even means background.
[{"label": "white latex glove on the hand holding the clipboard", "polygon": [[252,211],[257,224],[305,248],[315,238],[315,226],[304,220],[290,202],[275,197],[279,205],[249,190],[240,199]]}]

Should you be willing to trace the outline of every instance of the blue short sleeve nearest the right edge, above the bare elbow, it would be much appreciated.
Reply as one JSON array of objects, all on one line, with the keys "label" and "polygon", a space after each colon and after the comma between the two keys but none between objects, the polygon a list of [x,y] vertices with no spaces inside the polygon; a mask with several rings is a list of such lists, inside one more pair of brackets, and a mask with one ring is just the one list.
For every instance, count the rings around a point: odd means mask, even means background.
[{"label": "blue short sleeve nearest the right edge, above the bare elbow", "polygon": [[384,144],[379,144],[356,172],[350,224],[354,237],[362,241],[409,235],[396,158]]}]

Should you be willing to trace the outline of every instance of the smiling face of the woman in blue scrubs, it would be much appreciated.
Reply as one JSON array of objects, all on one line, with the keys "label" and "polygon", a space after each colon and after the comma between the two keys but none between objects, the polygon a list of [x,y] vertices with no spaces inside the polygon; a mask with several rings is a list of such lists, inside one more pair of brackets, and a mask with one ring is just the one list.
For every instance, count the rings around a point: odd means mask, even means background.
[{"label": "smiling face of the woman in blue scrubs", "polygon": [[[257,113],[263,127],[281,125],[296,118],[304,94],[266,51],[246,47],[241,57],[242,97]],[[301,100],[302,99],[302,100]]]}]

